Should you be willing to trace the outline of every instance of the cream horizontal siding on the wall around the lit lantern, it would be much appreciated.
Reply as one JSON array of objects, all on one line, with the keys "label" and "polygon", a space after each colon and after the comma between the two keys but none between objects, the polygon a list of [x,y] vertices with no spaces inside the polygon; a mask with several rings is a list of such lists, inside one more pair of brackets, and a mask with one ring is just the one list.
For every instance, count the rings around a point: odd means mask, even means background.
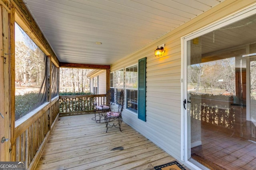
[{"label": "cream horizontal siding on the wall around the lit lantern", "polygon": [[[179,41],[178,41],[179,40]],[[161,59],[154,56],[157,45],[165,43],[165,53]],[[176,158],[180,157],[180,53],[178,43],[161,41],[129,56],[111,66],[126,67],[138,63],[138,59],[147,56],[146,60],[146,122],[138,119],[137,114],[125,109],[122,113],[124,122],[146,136]],[[175,49],[175,50],[174,50]],[[180,50],[180,49],[179,49]],[[161,141],[159,141],[159,137]]]}]

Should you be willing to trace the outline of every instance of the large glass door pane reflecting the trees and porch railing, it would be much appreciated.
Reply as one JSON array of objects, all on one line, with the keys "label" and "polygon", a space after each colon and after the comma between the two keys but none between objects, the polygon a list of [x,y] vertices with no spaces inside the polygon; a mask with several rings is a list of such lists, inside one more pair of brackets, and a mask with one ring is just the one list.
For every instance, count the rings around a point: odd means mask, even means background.
[{"label": "large glass door pane reflecting the trees and porch railing", "polygon": [[254,18],[187,41],[188,156],[210,169],[256,168]]}]

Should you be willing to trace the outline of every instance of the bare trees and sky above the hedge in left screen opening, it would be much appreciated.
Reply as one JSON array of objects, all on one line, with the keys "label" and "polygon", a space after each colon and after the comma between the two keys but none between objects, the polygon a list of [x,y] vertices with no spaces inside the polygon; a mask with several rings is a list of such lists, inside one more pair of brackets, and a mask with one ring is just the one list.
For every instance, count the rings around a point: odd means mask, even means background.
[{"label": "bare trees and sky above the hedge in left screen opening", "polygon": [[[40,88],[45,76],[46,55],[18,24],[16,24],[15,33],[16,86],[36,86]],[[17,94],[24,94],[24,92],[16,91]]]}]

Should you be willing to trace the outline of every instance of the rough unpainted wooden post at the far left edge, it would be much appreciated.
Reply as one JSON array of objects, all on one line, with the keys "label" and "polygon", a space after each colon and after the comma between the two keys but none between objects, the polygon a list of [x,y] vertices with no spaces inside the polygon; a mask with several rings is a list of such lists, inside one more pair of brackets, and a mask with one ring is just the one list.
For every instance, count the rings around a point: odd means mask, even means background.
[{"label": "rough unpainted wooden post at the far left edge", "polygon": [[[2,4],[2,2],[1,2]],[[11,14],[9,14],[11,12]],[[12,120],[12,111],[14,111],[14,102],[13,97],[14,87],[14,74],[12,72],[12,62],[14,59],[13,49],[10,47],[10,38],[12,39],[14,33],[14,12],[10,9],[6,9],[6,6],[0,5],[0,33],[2,37],[0,39],[0,48],[1,48],[1,69],[0,69],[0,88],[1,88],[1,130],[0,130],[0,139],[5,137],[6,139],[11,139],[0,143],[0,160],[1,161],[11,161],[12,160],[12,149],[13,149],[13,140],[14,140],[14,124]],[[13,39],[14,40],[14,39]],[[13,41],[14,42],[14,41]],[[14,46],[13,46],[14,47]]]}]

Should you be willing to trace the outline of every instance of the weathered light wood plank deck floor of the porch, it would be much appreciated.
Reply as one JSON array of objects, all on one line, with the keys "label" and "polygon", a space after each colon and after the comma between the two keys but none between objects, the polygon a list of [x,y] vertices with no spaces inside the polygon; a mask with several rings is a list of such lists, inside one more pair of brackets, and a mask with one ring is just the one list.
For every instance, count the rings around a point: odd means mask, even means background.
[{"label": "weathered light wood plank deck floor of the porch", "polygon": [[122,132],[106,133],[105,124],[92,117],[60,117],[36,169],[153,170],[175,160],[127,124],[122,123]]}]

